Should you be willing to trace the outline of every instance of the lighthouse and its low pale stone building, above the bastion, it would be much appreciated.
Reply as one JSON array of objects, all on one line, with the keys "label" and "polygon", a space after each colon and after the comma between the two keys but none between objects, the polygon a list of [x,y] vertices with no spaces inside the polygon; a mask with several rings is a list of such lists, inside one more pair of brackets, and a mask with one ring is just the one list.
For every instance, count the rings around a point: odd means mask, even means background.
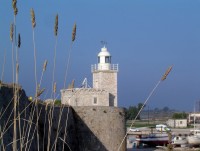
[{"label": "lighthouse and its low pale stone building, above the bastion", "polygon": [[61,90],[61,102],[70,106],[115,106],[117,107],[118,64],[111,64],[111,55],[104,46],[98,54],[98,64],[91,66],[93,88]]}]

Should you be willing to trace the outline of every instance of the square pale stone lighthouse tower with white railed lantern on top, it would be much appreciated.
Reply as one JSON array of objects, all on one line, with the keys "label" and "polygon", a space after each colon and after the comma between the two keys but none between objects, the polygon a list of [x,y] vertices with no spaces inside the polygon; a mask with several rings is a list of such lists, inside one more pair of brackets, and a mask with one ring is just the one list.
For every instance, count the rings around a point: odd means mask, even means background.
[{"label": "square pale stone lighthouse tower with white railed lantern on top", "polygon": [[93,88],[109,92],[109,106],[117,106],[118,64],[111,64],[111,55],[104,46],[98,54],[98,64],[92,65]]}]

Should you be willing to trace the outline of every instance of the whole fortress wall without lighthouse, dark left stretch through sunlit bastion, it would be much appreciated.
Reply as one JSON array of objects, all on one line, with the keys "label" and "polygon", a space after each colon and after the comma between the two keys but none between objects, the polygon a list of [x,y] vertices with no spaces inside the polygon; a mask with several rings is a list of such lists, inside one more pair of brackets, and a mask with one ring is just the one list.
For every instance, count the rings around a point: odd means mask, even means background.
[{"label": "whole fortress wall without lighthouse, dark left stretch through sunlit bastion", "polygon": [[[122,108],[106,106],[83,106],[73,108],[69,106],[56,106],[52,108],[50,104],[39,103],[37,106],[38,109],[36,109],[34,103],[28,100],[24,90],[20,89],[19,94],[20,102],[18,104],[18,111],[19,113],[22,113],[22,111],[24,112],[21,114],[21,120],[17,122],[17,140],[19,140],[19,126],[21,126],[21,130],[25,132],[22,139],[25,144],[20,146],[20,141],[18,141],[18,150],[25,151],[28,149],[30,151],[37,151],[37,133],[39,137],[39,150],[47,150],[49,141],[50,150],[56,151],[117,151],[125,136],[125,112]],[[0,150],[3,150],[4,147],[6,147],[5,150],[12,150],[12,98],[13,88],[1,86]],[[10,102],[11,104],[9,104]],[[36,128],[36,110],[38,110],[39,113],[38,129]],[[2,115],[3,111],[5,111],[5,113]],[[59,120],[60,115],[61,118]],[[32,116],[34,120],[32,123],[28,122]],[[9,119],[9,117],[11,118]],[[52,125],[49,129],[51,118]],[[5,125],[7,122],[8,124]],[[7,131],[2,133],[3,129]],[[67,132],[66,135],[65,130]],[[48,135],[49,132],[51,133],[50,137]],[[65,143],[63,142],[64,136],[66,136]],[[58,138],[57,141],[55,138]],[[125,150],[126,142],[124,142],[120,148],[120,151]]]}]

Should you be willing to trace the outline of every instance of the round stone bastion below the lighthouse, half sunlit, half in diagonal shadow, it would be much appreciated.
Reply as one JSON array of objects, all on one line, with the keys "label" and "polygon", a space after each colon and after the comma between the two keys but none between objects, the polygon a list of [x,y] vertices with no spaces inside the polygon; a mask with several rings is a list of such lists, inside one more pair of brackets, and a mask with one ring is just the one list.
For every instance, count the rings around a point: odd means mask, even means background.
[{"label": "round stone bastion below the lighthouse, half sunlit, half in diagonal shadow", "polygon": [[[117,107],[73,107],[79,146],[84,151],[117,151],[125,136],[125,112]],[[126,150],[126,142],[120,151]]]}]

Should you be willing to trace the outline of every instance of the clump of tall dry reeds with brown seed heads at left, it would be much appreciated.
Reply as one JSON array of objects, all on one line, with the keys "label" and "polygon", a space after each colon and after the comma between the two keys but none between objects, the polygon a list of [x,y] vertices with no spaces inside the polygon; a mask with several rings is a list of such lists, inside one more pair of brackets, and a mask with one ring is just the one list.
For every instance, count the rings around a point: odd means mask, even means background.
[{"label": "clump of tall dry reeds with brown seed heads at left", "polygon": [[[67,119],[66,119],[66,125],[65,127],[62,127],[61,125],[61,120],[62,120],[62,115],[63,115],[63,110],[65,108],[64,105],[60,106],[60,111],[59,111],[59,119],[58,119],[58,124],[57,124],[57,130],[56,130],[56,136],[54,138],[53,144],[51,144],[51,139],[52,139],[52,125],[53,125],[53,118],[54,118],[54,109],[55,109],[55,100],[58,96],[56,96],[56,91],[57,91],[57,84],[55,82],[55,69],[56,69],[56,51],[57,51],[57,37],[58,37],[58,14],[55,17],[55,26],[54,26],[54,35],[56,38],[55,42],[55,50],[54,50],[54,67],[53,67],[53,79],[52,79],[52,94],[54,94],[51,98],[53,99],[53,102],[50,104],[46,104],[44,102],[39,101],[39,97],[43,94],[45,91],[45,88],[41,88],[42,85],[42,80],[45,74],[45,71],[47,69],[47,60],[44,61],[42,72],[41,72],[41,77],[40,81],[38,84],[37,80],[37,56],[36,56],[36,43],[35,43],[35,28],[36,28],[36,18],[35,18],[35,12],[34,9],[31,8],[30,14],[31,14],[31,24],[32,24],[32,31],[33,31],[33,57],[34,57],[34,77],[35,77],[35,96],[32,101],[29,101],[28,104],[26,104],[23,108],[20,108],[20,106],[23,104],[21,102],[21,89],[18,86],[18,80],[19,80],[19,59],[20,57],[18,56],[18,50],[21,47],[21,35],[18,34],[18,41],[16,42],[16,15],[18,13],[18,8],[17,8],[17,0],[12,0],[12,7],[14,11],[14,22],[10,25],[10,40],[12,43],[12,74],[13,74],[13,79],[12,79],[12,88],[13,88],[13,98],[9,100],[7,103],[6,107],[0,109],[0,121],[7,115],[8,112],[9,116],[6,117],[7,119],[5,120],[4,123],[0,122],[0,150],[10,150],[12,146],[12,150],[31,150],[31,147],[33,145],[37,145],[37,150],[57,150],[57,142],[62,141],[63,142],[63,149],[64,146],[67,145],[69,150],[70,146],[66,142],[66,136],[67,136],[67,129],[68,129],[68,118],[69,118],[69,107],[67,111]],[[67,60],[67,69],[66,71],[68,72],[69,68],[69,62],[70,62],[70,53],[72,50],[72,44],[75,41],[76,38],[76,24],[73,26],[72,30],[72,41],[71,41],[71,46],[69,50],[69,57]],[[16,47],[15,47],[16,46]],[[16,49],[16,51],[14,51]],[[5,57],[4,57],[5,58]],[[5,60],[5,59],[4,59]],[[3,64],[3,67],[5,65],[5,61]],[[2,71],[2,76],[1,76],[1,81],[3,81],[3,71]],[[67,74],[66,74],[67,75]],[[66,76],[67,78],[67,76]],[[42,105],[41,105],[42,104]],[[42,107],[41,107],[42,106]],[[45,106],[45,121],[44,121],[44,135],[42,136],[42,141],[41,141],[41,136],[39,134],[39,119],[41,117],[41,112],[42,108]],[[11,108],[11,110],[10,110]],[[48,127],[48,129],[46,129]],[[13,128],[12,131],[12,141],[9,143],[5,144],[4,138],[7,136],[7,133],[10,131],[10,129]],[[64,137],[60,137],[60,132],[61,129],[65,129],[65,134]],[[47,135],[46,135],[47,134]],[[48,138],[45,138],[45,136],[48,136]],[[36,139],[36,144],[33,144]],[[46,146],[44,142],[47,142]],[[41,147],[40,144],[43,144]],[[42,149],[41,149],[42,148]]]}]

